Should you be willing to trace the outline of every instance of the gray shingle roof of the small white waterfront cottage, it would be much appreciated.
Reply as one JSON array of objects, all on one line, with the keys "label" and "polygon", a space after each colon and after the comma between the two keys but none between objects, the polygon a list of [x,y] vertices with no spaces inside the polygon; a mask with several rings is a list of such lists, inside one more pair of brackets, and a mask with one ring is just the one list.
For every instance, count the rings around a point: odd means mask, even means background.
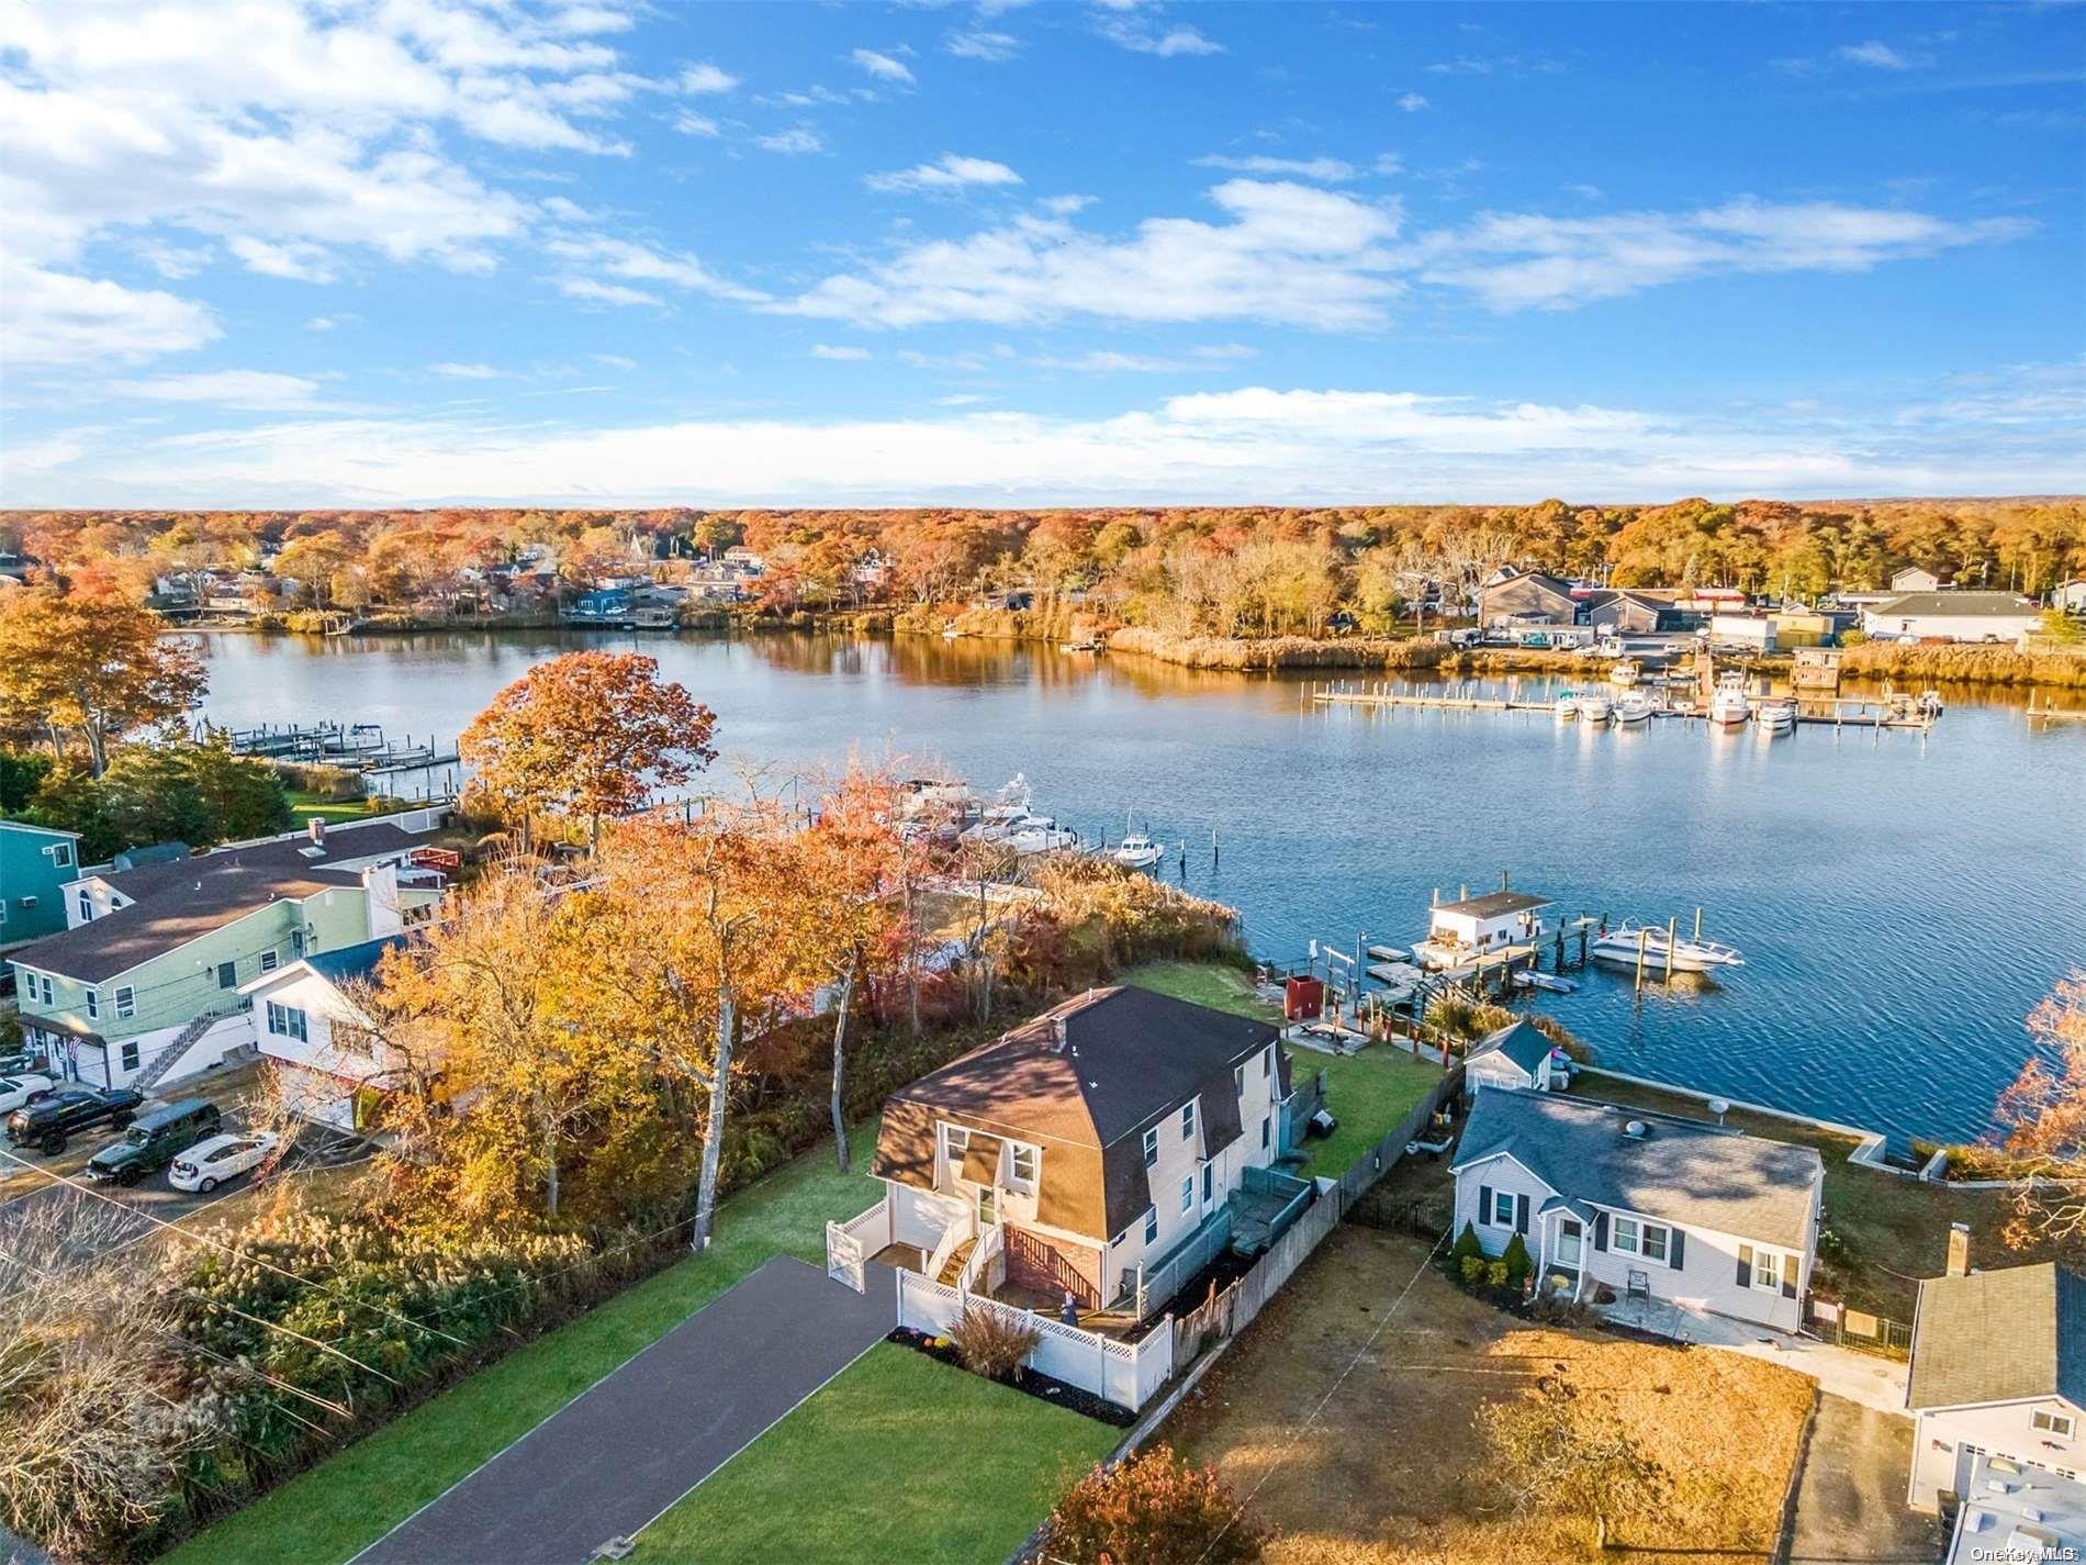
[{"label": "gray shingle roof of the small white waterfront cottage", "polygon": [[[1623,1127],[1644,1121],[1644,1139]],[[1804,1250],[1815,1148],[1585,1098],[1479,1085],[1456,1169],[1512,1154],[1558,1196]]]}]

